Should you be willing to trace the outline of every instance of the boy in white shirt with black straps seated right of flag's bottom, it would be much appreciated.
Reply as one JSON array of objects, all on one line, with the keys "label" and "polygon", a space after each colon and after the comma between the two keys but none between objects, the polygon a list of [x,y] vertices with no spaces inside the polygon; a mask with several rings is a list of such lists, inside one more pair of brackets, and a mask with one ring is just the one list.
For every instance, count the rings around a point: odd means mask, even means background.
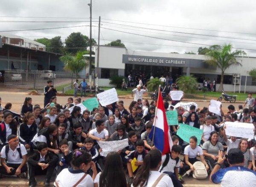
[{"label": "boy in white shirt with black straps seated right of flag's bottom", "polygon": [[162,156],[162,164],[159,171],[166,173],[172,178],[172,183],[175,187],[182,187],[179,178],[179,168],[180,168],[180,155],[181,147],[179,145],[173,145],[171,154],[165,154]]}]

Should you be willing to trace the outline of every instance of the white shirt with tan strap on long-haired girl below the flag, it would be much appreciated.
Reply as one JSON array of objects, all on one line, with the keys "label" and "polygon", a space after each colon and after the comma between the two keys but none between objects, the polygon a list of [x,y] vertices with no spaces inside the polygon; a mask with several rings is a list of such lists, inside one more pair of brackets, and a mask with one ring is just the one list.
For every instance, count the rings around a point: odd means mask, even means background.
[{"label": "white shirt with tan strap on long-haired girl below the flag", "polygon": [[[161,174],[162,173],[160,173],[159,171],[150,171],[150,175],[148,178],[148,184],[147,184],[147,186],[143,186],[143,187],[153,186],[154,182],[157,180],[157,178]],[[133,184],[131,186],[134,187]],[[164,174],[163,178],[161,178],[161,180],[157,183],[156,187],[173,187],[172,179],[168,175]]]}]

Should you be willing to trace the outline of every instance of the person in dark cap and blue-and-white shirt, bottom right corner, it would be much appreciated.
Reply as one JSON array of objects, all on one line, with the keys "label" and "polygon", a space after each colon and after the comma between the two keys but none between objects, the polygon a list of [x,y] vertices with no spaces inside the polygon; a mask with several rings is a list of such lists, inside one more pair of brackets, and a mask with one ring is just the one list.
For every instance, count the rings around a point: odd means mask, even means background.
[{"label": "person in dark cap and blue-and-white shirt, bottom right corner", "polygon": [[210,174],[211,182],[221,183],[221,187],[251,187],[252,184],[256,184],[256,172],[244,167],[244,154],[239,149],[229,150],[227,162],[230,167],[220,169],[226,159],[223,155],[223,151],[219,151],[218,161]]}]

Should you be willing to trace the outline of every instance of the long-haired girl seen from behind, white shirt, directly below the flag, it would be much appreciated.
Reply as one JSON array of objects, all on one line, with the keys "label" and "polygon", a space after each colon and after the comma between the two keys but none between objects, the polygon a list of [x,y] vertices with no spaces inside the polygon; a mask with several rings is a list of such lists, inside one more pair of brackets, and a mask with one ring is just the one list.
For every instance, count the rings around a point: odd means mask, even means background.
[{"label": "long-haired girl seen from behind, white shirt, directly below the flag", "polygon": [[[137,171],[132,187],[173,187],[172,179],[160,173],[159,167],[162,162],[162,155],[159,150],[151,150],[145,155],[143,164]],[[159,180],[159,181],[157,181]]]}]

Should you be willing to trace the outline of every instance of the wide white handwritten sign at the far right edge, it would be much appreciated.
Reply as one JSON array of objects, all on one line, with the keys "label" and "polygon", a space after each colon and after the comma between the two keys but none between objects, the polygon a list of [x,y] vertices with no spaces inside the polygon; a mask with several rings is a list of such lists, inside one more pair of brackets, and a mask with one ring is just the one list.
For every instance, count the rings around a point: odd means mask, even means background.
[{"label": "wide white handwritten sign at the far right edge", "polygon": [[226,135],[250,139],[254,138],[253,124],[225,122],[225,126]]}]

